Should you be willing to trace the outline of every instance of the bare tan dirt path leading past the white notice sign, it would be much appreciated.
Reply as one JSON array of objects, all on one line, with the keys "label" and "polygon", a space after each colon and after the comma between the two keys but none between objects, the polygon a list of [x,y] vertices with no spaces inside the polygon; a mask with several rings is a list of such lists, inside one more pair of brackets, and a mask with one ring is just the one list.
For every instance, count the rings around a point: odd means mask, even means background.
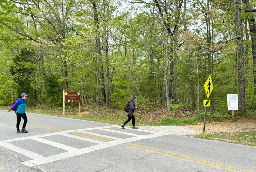
[{"label": "bare tan dirt path leading past the white notice sign", "polygon": [[[196,125],[186,125],[185,127],[198,131],[203,131],[203,122],[198,122]],[[239,118],[235,122],[225,120],[223,122],[206,122],[205,132],[211,133],[234,133],[234,132],[248,132],[256,131],[256,117]]]}]

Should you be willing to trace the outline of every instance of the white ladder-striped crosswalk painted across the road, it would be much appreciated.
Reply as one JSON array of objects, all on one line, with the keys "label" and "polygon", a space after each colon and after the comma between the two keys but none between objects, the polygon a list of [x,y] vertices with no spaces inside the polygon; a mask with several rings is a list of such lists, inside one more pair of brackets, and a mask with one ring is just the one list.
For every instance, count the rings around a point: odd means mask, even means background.
[{"label": "white ladder-striped crosswalk painted across the road", "polygon": [[[116,146],[119,144],[148,139],[158,136],[164,136],[168,133],[163,132],[155,132],[155,131],[147,131],[141,129],[131,129],[126,128],[125,130],[120,129],[120,126],[103,126],[103,127],[93,127],[93,128],[85,128],[85,129],[76,129],[76,130],[65,130],[53,133],[47,133],[42,135],[35,135],[35,136],[27,136],[15,139],[8,139],[0,141],[0,146],[8,148],[12,151],[15,151],[19,154],[25,155],[29,157],[31,160],[27,160],[22,162],[24,165],[28,167],[38,166],[41,164],[46,164],[49,162],[54,162],[70,157],[74,157],[81,154],[86,154],[92,151]],[[92,146],[83,147],[83,148],[75,148],[72,146],[68,146],[66,144],[62,144],[59,142],[51,141],[45,139],[47,136],[63,136],[68,137],[70,139],[78,139],[81,141],[87,141],[93,143]],[[55,148],[65,150],[62,153],[53,154],[53,155],[42,155],[31,150],[27,150],[12,144],[13,142],[19,141],[27,141],[33,140],[40,142],[41,144],[46,144],[48,146],[52,146]]]}]

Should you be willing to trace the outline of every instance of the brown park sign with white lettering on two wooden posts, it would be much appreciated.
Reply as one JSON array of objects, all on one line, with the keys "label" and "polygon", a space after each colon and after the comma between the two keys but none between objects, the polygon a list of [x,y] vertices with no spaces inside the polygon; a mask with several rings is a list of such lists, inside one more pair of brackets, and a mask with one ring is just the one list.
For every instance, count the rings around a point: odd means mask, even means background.
[{"label": "brown park sign with white lettering on two wooden posts", "polygon": [[80,113],[80,91],[79,92],[65,92],[63,90],[63,115],[65,115],[65,103],[78,103]]}]

